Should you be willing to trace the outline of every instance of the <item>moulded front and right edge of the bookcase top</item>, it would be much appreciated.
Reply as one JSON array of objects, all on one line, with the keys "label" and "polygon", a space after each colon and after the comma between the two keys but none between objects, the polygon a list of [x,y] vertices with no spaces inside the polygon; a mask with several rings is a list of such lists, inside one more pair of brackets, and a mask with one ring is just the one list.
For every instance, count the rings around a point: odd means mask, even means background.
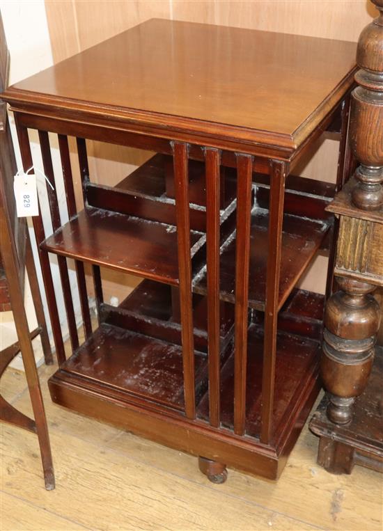
[{"label": "moulded front and right edge of the bookcase top", "polygon": [[[355,71],[357,67],[355,68]],[[171,132],[178,132],[178,140],[188,143],[203,143],[210,145],[208,141],[201,142],[203,138],[214,139],[214,147],[226,150],[239,150],[249,152],[253,155],[265,156],[263,150],[258,152],[257,146],[274,150],[275,158],[281,158],[286,161],[295,156],[295,152],[307,140],[308,136],[314,131],[315,127],[331,112],[339,102],[341,102],[347,90],[354,84],[354,71],[349,77],[345,78],[344,84],[338,86],[338,90],[332,95],[331,99],[325,100],[322,105],[315,109],[312,115],[302,124],[294,134],[281,134],[276,132],[262,131],[259,129],[249,129],[245,127],[230,126],[217,122],[208,122],[205,120],[196,120],[182,116],[166,115],[137,109],[120,109],[118,107],[108,106],[106,108],[91,103],[77,102],[47,97],[39,99],[36,93],[29,93],[22,90],[13,90],[8,88],[0,99],[10,104],[10,110],[15,112],[27,113],[39,117],[54,118],[59,116],[61,120],[77,121],[85,125],[100,125],[105,127],[105,113],[108,112],[109,129],[124,130],[127,132],[137,132],[139,127],[144,127],[147,134],[160,136],[171,140]],[[59,111],[59,115],[58,115]],[[76,116],[74,116],[76,114]],[[164,125],[166,122],[166,125]],[[234,142],[236,148],[230,148]]]}]

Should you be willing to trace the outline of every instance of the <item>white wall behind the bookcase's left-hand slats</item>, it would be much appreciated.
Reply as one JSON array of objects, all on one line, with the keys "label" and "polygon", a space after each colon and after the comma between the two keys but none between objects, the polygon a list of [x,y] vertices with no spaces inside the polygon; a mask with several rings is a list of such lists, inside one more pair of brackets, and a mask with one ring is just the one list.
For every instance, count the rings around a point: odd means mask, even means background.
[{"label": "white wall behind the bookcase's left-hand slats", "polygon": [[[4,31],[6,33],[6,40],[8,49],[10,51],[10,84],[14,84],[21,79],[31,76],[40,70],[51,66],[53,64],[52,48],[49,40],[49,31],[47,26],[47,17],[45,14],[44,0],[32,0],[32,1],[6,1],[0,0],[1,17],[3,19]],[[15,146],[15,154],[17,159],[18,168],[22,168],[21,159],[19,155],[19,149],[17,145],[17,138],[15,135],[15,128],[13,123],[13,116],[10,115],[11,127],[13,129],[13,143]],[[42,168],[40,161],[40,149],[38,146],[37,138],[31,136],[31,148],[33,163]],[[52,145],[54,146],[54,138],[52,138]],[[53,152],[53,159],[56,160],[54,164],[55,174],[58,176],[57,192],[58,198],[63,198],[64,191],[60,183],[61,168],[57,164],[58,153],[57,150]],[[47,234],[52,231],[52,225],[50,225],[50,216],[47,212],[47,201],[45,198],[45,184],[43,182],[38,183],[40,200],[42,201],[42,213],[43,221]],[[62,203],[62,201],[61,201]],[[45,213],[45,215],[44,215]],[[64,212],[64,215],[66,212]],[[29,220],[31,225],[31,220]],[[33,253],[36,258],[36,243],[33,232],[30,229],[31,242],[33,246]],[[45,308],[45,315],[47,314],[46,300],[43,290],[42,277],[40,273],[40,267],[36,267],[38,271],[38,277],[40,282],[40,291],[42,292],[42,299]],[[55,263],[52,264],[52,275],[54,279],[54,285],[60,285],[58,268]],[[75,284],[75,276],[71,274],[71,284]],[[61,292],[56,293],[58,299],[58,313],[60,321],[63,324],[64,334],[66,328],[65,312],[63,310],[63,297]],[[31,299],[31,293],[29,291],[29,285],[26,283],[25,292],[25,306],[26,314],[29,320],[29,325],[32,328],[36,327],[36,317],[33,310],[33,301]],[[75,301],[75,309],[77,315],[79,315],[79,301]],[[52,336],[49,319],[47,319],[49,328],[49,336]],[[0,312],[0,349],[6,347],[17,340],[15,331],[15,325],[13,322],[12,312]],[[52,341],[51,341],[52,342]],[[35,351],[37,363],[42,362],[42,348],[40,338],[36,338],[33,341],[33,347]],[[22,369],[22,361],[20,356],[15,358],[13,366],[18,369]]]}]

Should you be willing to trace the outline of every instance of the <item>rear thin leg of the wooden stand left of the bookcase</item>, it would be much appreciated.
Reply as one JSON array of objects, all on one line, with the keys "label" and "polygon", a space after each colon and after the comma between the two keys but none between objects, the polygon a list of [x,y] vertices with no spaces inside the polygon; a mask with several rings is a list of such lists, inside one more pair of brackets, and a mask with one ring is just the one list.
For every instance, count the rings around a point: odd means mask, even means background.
[{"label": "rear thin leg of the wooden stand left of the bookcase", "polygon": [[36,268],[33,262],[33,254],[31,247],[31,240],[29,239],[28,230],[26,231],[26,249],[25,249],[25,265],[28,273],[29,285],[31,286],[31,294],[33,299],[33,306],[35,307],[36,318],[40,328],[40,338],[42,344],[42,351],[44,352],[44,359],[47,365],[53,364],[53,356],[51,344],[49,342],[47,332],[47,322],[45,321],[44,310],[42,308],[42,301],[40,296],[40,289],[38,287],[38,278],[36,275]]}]

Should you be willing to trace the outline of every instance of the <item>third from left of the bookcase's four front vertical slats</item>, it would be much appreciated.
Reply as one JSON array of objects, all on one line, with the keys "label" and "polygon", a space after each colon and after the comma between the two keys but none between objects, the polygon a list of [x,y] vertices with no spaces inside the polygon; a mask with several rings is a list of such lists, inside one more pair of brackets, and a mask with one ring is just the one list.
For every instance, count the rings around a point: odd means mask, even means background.
[{"label": "third from left of the bookcase's four front vertical slats", "polygon": [[246,420],[247,316],[253,159],[237,155],[237,232],[235,238],[234,431],[244,434]]}]

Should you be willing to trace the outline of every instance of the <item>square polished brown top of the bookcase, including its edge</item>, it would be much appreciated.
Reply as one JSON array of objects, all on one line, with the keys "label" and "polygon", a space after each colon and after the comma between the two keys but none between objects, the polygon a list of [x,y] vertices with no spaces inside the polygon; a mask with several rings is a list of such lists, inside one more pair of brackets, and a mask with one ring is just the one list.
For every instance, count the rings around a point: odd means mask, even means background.
[{"label": "square polished brown top of the bookcase, including its edge", "polygon": [[3,99],[294,148],[352,85],[355,52],[353,42],[150,19]]}]

